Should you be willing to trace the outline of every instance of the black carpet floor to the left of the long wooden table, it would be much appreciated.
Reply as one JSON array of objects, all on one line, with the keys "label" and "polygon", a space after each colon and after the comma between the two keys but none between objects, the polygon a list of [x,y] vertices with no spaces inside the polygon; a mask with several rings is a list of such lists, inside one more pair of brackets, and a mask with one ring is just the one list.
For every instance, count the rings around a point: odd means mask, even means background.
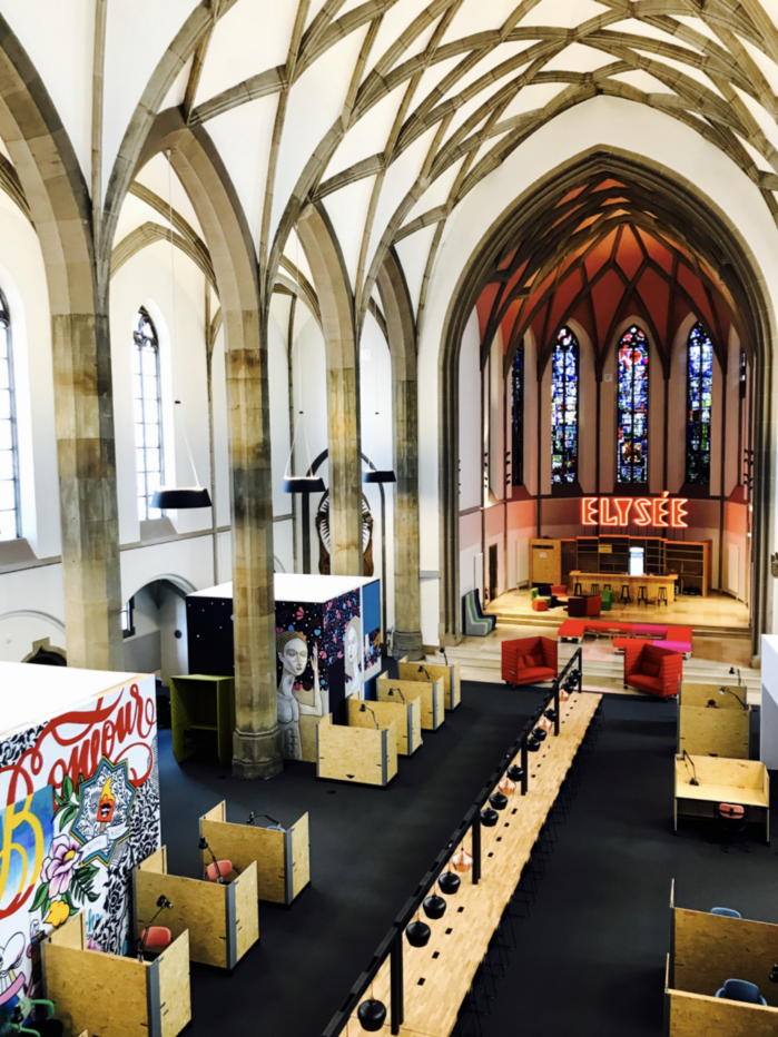
[{"label": "black carpet floor to the left of the long wooden table", "polygon": [[289,910],[260,905],[260,944],[232,976],[193,966],[191,1037],[318,1037],[542,694],[463,683],[462,704],[424,733],[386,789],[315,780],[311,763],[245,782],[217,763],[176,764],[160,732],[168,867],[199,876],[197,820],[227,800],[292,824],[311,814],[312,886]]}]

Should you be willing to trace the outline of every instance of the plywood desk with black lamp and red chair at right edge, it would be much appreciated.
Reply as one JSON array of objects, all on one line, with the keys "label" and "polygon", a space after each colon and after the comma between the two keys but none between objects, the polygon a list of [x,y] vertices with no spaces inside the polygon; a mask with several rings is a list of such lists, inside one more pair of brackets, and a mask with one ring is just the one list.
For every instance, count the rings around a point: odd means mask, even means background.
[{"label": "plywood desk with black lamp and red chair at right edge", "polygon": [[765,843],[770,845],[770,779],[758,760],[725,760],[720,757],[690,757],[698,786],[691,784],[688,760],[676,757],[676,799],[673,826],[678,818],[713,818],[717,803],[746,807],[746,817],[765,827]]}]

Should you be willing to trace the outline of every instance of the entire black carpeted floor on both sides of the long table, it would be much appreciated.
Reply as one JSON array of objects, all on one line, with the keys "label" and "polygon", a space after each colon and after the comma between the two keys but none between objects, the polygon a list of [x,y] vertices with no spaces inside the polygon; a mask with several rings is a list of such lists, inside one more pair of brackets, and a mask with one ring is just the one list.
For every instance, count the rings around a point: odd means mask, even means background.
[{"label": "entire black carpeted floor on both sides of the long table", "polygon": [[[197,819],[221,799],[234,820],[256,810],[288,824],[311,812],[312,888],[290,910],[260,907],[262,942],[232,977],[194,967],[193,1037],[317,1037],[538,701],[464,683],[461,709],[425,732],[385,790],[317,782],[312,764],[263,783],[216,763],[179,768],[161,732],[171,871],[197,875]],[[680,906],[778,921],[775,849],[755,839],[749,852],[723,852],[701,829],[672,833],[674,704],[607,697],[603,709],[530,918],[514,922],[516,950],[484,1037],[509,1037],[518,1020],[526,1037],[661,1034],[673,878]]]}]

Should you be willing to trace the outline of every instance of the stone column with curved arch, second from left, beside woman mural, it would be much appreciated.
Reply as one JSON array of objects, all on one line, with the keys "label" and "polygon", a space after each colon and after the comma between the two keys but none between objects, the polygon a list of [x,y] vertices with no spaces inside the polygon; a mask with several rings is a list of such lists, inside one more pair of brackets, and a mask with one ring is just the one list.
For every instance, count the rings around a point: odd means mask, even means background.
[{"label": "stone column with curved arch, second from left, beside woman mural", "polygon": [[159,151],[195,208],[213,258],[227,343],[233,474],[235,626],[234,772],[270,778],[282,769],[276,705],[267,336],[250,231],[210,137],[178,109],[160,115],[138,168]]}]

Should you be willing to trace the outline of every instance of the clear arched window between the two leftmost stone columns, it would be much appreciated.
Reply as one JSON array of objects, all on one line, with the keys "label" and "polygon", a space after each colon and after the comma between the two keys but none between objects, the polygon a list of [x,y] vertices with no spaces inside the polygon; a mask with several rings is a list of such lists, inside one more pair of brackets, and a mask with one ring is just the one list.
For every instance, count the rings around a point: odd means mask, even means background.
[{"label": "clear arched window between the two leftmost stone columns", "polygon": [[159,377],[159,340],[151,318],[141,307],[132,333],[132,405],[135,455],[138,476],[138,517],[159,518],[151,507],[155,490],[163,485],[163,394]]}]

